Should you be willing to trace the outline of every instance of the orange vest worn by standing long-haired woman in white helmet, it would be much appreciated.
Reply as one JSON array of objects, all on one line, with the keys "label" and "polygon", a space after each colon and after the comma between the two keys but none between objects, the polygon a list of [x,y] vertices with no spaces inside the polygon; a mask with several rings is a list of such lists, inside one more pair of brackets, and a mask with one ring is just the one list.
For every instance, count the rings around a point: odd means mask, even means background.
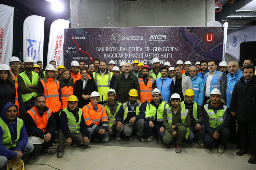
[{"label": "orange vest worn by standing long-haired woman in white helmet", "polygon": [[61,102],[59,101],[59,81],[53,82],[53,78],[48,78],[48,82],[44,79],[40,81],[44,87],[44,96],[46,97],[45,106],[51,108],[53,113],[59,112]]}]

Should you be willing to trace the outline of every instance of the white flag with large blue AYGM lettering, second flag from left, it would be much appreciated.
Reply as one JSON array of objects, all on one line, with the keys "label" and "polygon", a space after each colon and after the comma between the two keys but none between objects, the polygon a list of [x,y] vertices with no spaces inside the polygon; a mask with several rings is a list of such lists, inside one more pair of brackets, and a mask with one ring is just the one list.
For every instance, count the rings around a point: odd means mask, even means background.
[{"label": "white flag with large blue AYGM lettering, second flag from left", "polygon": [[31,15],[23,24],[23,58],[32,57],[35,63],[43,61],[44,19]]}]

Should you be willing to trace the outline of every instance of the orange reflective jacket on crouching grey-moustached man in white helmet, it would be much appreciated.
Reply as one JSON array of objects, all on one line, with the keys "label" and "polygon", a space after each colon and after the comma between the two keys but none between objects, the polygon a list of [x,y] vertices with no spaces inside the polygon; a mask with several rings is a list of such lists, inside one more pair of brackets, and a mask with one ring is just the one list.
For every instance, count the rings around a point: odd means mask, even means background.
[{"label": "orange reflective jacket on crouching grey-moustached man in white helmet", "polygon": [[[82,108],[85,124],[87,126],[89,126],[91,123],[99,125],[100,122],[106,121],[106,124],[102,124],[102,126],[108,126],[108,116],[106,114],[105,107],[103,107],[101,104],[98,104],[97,108],[98,109],[96,112],[93,108],[93,105],[91,105],[91,102]],[[96,128],[96,126],[93,127],[93,129],[94,128]]]}]

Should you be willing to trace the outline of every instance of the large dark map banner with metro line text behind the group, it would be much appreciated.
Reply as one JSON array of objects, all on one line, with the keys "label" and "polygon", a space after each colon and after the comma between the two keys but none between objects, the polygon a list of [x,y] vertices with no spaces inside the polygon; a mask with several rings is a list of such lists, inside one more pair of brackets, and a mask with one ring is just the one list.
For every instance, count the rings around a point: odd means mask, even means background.
[{"label": "large dark map banner with metro line text behind the group", "polygon": [[96,58],[116,66],[122,61],[138,60],[152,68],[159,58],[176,65],[178,60],[195,64],[202,60],[222,61],[223,27],[128,27],[65,29],[64,66],[72,61],[85,64]]}]

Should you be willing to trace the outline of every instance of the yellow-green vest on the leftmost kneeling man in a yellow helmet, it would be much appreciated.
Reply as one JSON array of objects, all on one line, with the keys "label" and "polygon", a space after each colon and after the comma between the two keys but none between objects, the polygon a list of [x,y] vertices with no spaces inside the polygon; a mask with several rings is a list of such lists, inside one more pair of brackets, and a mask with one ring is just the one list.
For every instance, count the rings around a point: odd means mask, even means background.
[{"label": "yellow-green vest on the leftmost kneeling man in a yellow helmet", "polygon": [[[80,123],[81,123],[81,116],[82,116],[82,109],[79,108],[78,115],[79,115],[79,122],[76,123],[75,117],[72,113],[69,112],[68,107],[63,109],[63,111],[67,114],[67,119],[68,119],[68,127],[70,133],[79,133],[80,132]],[[59,115],[61,112],[59,113]]]}]

